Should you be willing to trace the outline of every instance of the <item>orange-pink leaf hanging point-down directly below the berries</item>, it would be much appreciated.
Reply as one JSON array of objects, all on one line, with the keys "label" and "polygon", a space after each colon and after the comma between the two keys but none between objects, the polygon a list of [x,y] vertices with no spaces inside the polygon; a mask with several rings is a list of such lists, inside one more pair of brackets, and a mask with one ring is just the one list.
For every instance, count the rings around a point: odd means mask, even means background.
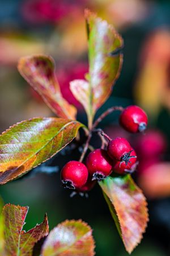
[{"label": "orange-pink leaf hanging point-down directly below the berries", "polygon": [[145,196],[130,175],[100,181],[104,197],[128,253],[141,242],[148,212]]}]

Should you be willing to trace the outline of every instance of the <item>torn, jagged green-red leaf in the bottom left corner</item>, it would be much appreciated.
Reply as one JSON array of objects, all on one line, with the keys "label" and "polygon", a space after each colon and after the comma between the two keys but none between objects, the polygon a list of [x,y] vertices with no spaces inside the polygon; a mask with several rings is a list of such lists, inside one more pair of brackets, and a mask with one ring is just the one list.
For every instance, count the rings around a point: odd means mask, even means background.
[{"label": "torn, jagged green-red leaf in the bottom left corner", "polygon": [[23,225],[27,216],[28,207],[6,204],[2,215],[5,220],[5,250],[6,256],[32,256],[33,246],[49,233],[48,218],[35,228],[25,232]]}]

